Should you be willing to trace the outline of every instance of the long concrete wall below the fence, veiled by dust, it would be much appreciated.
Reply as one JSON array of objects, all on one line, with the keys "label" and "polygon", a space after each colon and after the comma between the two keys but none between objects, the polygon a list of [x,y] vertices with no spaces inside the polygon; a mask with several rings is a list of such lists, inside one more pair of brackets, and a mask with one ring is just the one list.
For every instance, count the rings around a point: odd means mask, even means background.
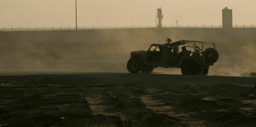
[{"label": "long concrete wall below the fence, veiled by dust", "polygon": [[[198,41],[255,41],[256,28],[170,28],[183,40]],[[171,37],[179,39],[164,28],[134,28],[105,30],[54,30],[54,31],[13,31],[0,32],[1,45],[30,45],[50,40],[52,42],[140,42],[164,41]]]}]

